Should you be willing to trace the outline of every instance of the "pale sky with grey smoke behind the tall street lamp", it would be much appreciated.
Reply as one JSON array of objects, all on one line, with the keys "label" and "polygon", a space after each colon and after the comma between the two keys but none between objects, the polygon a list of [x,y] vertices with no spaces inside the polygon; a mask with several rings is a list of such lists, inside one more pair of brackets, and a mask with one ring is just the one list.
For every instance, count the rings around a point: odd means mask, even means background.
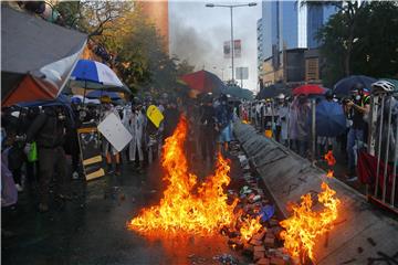
[{"label": "pale sky with grey smoke behind the tall street lamp", "polygon": [[[231,40],[230,9],[206,8],[206,3],[249,3],[237,1],[169,0],[170,52],[187,59],[196,70],[213,72],[220,78],[231,78],[231,60],[223,57],[223,42]],[[249,80],[243,86],[258,89],[256,84],[256,20],[261,18],[261,2],[255,7],[233,9],[233,38],[242,41],[242,56],[234,66],[248,66]],[[216,68],[214,68],[216,67]],[[239,81],[240,82],[240,81]]]}]

